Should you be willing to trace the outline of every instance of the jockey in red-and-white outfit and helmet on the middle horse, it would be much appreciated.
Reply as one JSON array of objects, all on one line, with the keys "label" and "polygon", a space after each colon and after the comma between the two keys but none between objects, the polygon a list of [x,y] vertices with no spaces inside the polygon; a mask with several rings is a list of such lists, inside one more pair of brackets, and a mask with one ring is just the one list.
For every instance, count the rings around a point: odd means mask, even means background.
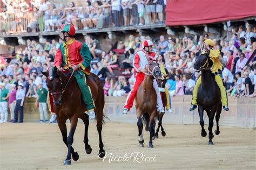
[{"label": "jockey in red-and-white outfit and helmet on the middle horse", "polygon": [[[124,105],[124,111],[123,114],[127,114],[127,112],[132,108],[134,98],[136,97],[138,87],[140,83],[144,80],[145,77],[145,66],[147,64],[147,58],[150,58],[152,60],[156,60],[158,56],[156,53],[151,52],[152,51],[153,42],[150,40],[145,40],[142,42],[142,51],[138,51],[133,58],[133,67],[136,70],[136,81],[134,83],[132,91],[130,91],[129,95],[127,96],[126,103]],[[160,91],[158,89],[158,84],[156,79],[153,80],[153,87],[154,90],[156,90],[157,93],[157,111],[160,112],[160,114],[164,114],[164,107],[161,100]]]}]

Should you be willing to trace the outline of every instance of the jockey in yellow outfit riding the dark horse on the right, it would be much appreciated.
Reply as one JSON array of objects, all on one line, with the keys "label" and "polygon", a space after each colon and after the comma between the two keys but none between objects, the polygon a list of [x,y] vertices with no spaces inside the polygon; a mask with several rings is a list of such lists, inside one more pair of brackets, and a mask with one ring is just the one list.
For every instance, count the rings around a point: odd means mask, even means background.
[{"label": "jockey in yellow outfit riding the dark horse on the right", "polygon": [[[218,49],[214,49],[214,47],[215,47],[215,44],[213,40],[206,39],[204,41],[204,51],[201,53],[208,53],[208,51],[210,51],[210,59],[213,61],[211,70],[212,70],[212,73],[215,74],[215,81],[217,82],[220,88],[221,104],[223,105],[223,109],[225,111],[228,111],[229,109],[227,104],[227,92],[226,92],[226,88],[224,87],[223,81],[221,80],[221,77],[220,77],[220,74],[221,72],[223,72],[224,68],[221,65],[219,60],[220,52]],[[201,77],[199,77],[196,83],[196,86],[194,87],[190,111],[193,111],[194,109],[197,108],[197,90],[200,84],[201,84]]]}]

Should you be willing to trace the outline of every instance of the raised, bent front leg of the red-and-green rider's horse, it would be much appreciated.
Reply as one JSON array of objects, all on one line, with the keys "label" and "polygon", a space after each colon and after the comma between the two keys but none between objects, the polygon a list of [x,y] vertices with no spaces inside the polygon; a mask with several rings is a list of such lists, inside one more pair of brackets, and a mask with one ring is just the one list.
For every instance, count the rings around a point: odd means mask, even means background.
[{"label": "raised, bent front leg of the red-and-green rider's horse", "polygon": [[[59,117],[57,117],[57,122],[58,122],[59,130],[62,133],[62,140],[65,143],[65,145],[69,147],[67,131],[66,131],[66,119],[60,119]],[[71,154],[72,154],[73,160],[77,161],[79,159],[78,153],[74,151],[74,148],[72,146],[71,146]]]}]

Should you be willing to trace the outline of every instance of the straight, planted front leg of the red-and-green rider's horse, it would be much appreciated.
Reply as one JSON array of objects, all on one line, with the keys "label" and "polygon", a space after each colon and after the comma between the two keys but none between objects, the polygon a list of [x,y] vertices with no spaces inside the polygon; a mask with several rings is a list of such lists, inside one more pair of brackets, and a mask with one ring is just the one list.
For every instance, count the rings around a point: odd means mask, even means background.
[{"label": "straight, planted front leg of the red-and-green rider's horse", "polygon": [[74,136],[76,128],[77,128],[77,121],[78,121],[77,116],[73,116],[72,118],[70,118],[71,125],[70,125],[70,131],[69,131],[69,136],[68,136],[68,154],[66,155],[64,165],[71,165],[71,152],[72,152],[73,136]]}]

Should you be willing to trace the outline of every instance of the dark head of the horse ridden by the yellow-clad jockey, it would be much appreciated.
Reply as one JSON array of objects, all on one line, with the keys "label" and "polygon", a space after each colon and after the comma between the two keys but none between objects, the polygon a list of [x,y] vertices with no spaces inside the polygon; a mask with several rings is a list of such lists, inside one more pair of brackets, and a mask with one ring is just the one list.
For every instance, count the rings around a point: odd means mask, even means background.
[{"label": "dark head of the horse ridden by the yellow-clad jockey", "polygon": [[200,72],[201,70],[210,70],[213,62],[209,58],[207,54],[200,54],[196,58],[196,62],[194,63],[194,69],[196,72]]}]

